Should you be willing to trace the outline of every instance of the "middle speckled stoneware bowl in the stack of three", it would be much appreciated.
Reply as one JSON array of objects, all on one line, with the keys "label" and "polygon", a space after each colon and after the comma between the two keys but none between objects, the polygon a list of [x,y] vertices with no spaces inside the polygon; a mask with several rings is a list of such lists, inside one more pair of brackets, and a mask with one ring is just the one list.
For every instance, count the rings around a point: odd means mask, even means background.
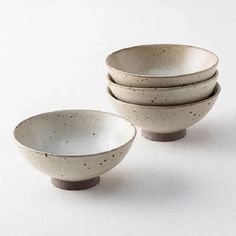
[{"label": "middle speckled stoneware bowl in the stack of three", "polygon": [[210,79],[181,87],[136,88],[116,84],[107,75],[109,88],[113,95],[123,102],[138,105],[180,105],[200,101],[212,93],[218,72]]}]

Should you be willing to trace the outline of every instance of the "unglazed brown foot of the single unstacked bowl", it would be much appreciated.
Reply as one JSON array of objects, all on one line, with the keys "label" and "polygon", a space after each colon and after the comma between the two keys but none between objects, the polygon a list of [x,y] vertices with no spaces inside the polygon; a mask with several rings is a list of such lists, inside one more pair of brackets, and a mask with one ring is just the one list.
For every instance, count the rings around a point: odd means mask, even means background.
[{"label": "unglazed brown foot of the single unstacked bowl", "polygon": [[83,190],[92,188],[95,185],[97,185],[100,182],[100,177],[95,177],[92,179],[82,180],[82,181],[66,181],[66,180],[51,178],[51,182],[57,188],[61,188],[64,190]]}]

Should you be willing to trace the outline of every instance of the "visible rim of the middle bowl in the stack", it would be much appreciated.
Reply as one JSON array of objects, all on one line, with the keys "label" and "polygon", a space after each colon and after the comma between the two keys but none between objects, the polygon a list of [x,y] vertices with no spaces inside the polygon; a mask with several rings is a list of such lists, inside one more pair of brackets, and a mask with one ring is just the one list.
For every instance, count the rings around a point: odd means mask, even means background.
[{"label": "visible rim of the middle bowl in the stack", "polygon": [[219,71],[216,70],[215,74],[208,78],[205,79],[203,81],[199,81],[199,82],[195,82],[195,83],[191,83],[191,84],[184,84],[182,86],[172,86],[172,87],[134,87],[134,86],[125,86],[125,85],[121,85],[116,83],[111,75],[108,73],[106,76],[106,79],[108,81],[108,83],[111,83],[113,86],[117,87],[117,88],[121,88],[121,89],[125,89],[125,90],[138,90],[138,91],[174,91],[174,90],[180,90],[180,89],[188,89],[188,88],[192,88],[192,87],[196,87],[198,85],[204,85],[207,83],[210,83],[211,81],[217,80],[219,76]]}]

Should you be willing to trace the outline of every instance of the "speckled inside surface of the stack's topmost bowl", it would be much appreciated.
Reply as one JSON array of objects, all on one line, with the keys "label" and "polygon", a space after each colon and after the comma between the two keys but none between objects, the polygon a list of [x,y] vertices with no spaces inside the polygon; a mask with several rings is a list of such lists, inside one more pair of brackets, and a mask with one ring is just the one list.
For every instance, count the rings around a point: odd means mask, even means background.
[{"label": "speckled inside surface of the stack's topmost bowl", "polygon": [[186,45],[143,45],[112,53],[107,64],[116,70],[151,77],[192,74],[215,66],[217,56]]}]

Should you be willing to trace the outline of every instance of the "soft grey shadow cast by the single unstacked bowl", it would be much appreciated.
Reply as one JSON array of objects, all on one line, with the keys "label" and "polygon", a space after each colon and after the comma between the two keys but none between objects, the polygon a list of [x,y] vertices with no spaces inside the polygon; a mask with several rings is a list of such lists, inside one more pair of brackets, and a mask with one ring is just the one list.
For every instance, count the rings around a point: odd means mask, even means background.
[{"label": "soft grey shadow cast by the single unstacked bowl", "polygon": [[195,180],[183,173],[169,173],[166,170],[126,169],[101,177],[101,183],[89,191],[89,195],[125,204],[145,203],[150,206],[182,200],[194,195]]}]

